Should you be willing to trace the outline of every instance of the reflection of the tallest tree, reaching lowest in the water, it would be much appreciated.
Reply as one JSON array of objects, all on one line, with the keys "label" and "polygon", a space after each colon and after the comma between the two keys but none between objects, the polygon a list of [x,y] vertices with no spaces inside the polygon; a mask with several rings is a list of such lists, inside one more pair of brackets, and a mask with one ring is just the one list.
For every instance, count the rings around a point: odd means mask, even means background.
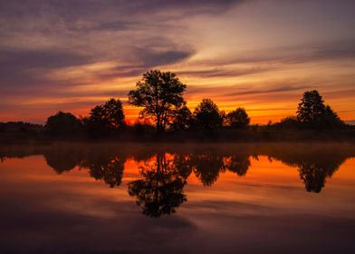
[{"label": "reflection of the tallest tree, reaching lowest in the water", "polygon": [[[182,163],[182,160],[178,160]],[[177,161],[167,160],[165,153],[158,153],[155,161],[139,167],[142,180],[129,183],[130,196],[137,197],[137,204],[143,214],[160,217],[174,213],[187,200],[183,188],[187,184],[188,173],[177,167]]]}]

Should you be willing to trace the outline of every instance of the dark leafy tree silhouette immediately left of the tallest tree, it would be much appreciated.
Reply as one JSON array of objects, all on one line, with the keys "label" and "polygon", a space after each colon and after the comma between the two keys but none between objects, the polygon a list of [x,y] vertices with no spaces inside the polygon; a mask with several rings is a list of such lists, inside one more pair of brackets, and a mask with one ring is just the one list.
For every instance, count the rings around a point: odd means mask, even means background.
[{"label": "dark leafy tree silhouette immediately left of the tallest tree", "polygon": [[122,103],[119,99],[111,98],[102,105],[91,109],[87,121],[91,135],[107,134],[120,130],[125,125]]}]

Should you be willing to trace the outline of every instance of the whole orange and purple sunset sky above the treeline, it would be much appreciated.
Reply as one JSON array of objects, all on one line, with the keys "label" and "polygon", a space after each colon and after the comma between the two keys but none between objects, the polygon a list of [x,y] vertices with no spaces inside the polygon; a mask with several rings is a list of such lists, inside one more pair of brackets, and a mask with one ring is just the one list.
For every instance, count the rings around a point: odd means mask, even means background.
[{"label": "whole orange and purple sunset sky above the treeline", "polygon": [[0,121],[127,103],[142,73],[177,73],[193,110],[211,98],[252,123],[295,115],[317,89],[355,120],[355,1],[0,0]]}]

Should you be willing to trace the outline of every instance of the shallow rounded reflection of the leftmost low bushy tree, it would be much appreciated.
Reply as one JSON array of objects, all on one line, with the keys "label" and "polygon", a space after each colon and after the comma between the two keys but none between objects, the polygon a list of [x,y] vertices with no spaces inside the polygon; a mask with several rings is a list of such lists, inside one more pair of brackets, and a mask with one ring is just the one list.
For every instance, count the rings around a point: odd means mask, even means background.
[{"label": "shallow rounded reflection of the leftmost low bushy tree", "polygon": [[58,149],[44,152],[44,159],[48,166],[58,174],[64,171],[72,171],[82,161],[82,153],[77,150]]}]

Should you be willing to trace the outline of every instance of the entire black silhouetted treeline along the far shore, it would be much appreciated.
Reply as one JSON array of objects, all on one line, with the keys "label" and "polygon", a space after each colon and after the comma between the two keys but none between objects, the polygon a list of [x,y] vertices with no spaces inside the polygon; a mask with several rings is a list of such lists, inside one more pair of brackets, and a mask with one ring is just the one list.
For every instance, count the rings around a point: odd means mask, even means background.
[{"label": "entire black silhouetted treeline along the far shore", "polygon": [[[353,126],[341,121],[330,105],[316,91],[303,93],[296,115],[267,125],[250,125],[245,108],[232,112],[219,110],[205,98],[193,112],[187,107],[187,85],[175,73],[152,70],[143,74],[136,88],[128,94],[129,103],[140,107],[139,121],[125,122],[120,99],[111,98],[96,105],[88,117],[71,112],[57,112],[44,125],[26,122],[0,123],[0,133],[7,140],[33,136],[41,139],[120,139],[120,140],[221,140],[283,141],[309,139],[354,140]],[[10,134],[12,133],[12,135]],[[17,133],[17,135],[15,134]],[[2,141],[6,141],[2,135]],[[1,135],[0,135],[1,137]]]}]

